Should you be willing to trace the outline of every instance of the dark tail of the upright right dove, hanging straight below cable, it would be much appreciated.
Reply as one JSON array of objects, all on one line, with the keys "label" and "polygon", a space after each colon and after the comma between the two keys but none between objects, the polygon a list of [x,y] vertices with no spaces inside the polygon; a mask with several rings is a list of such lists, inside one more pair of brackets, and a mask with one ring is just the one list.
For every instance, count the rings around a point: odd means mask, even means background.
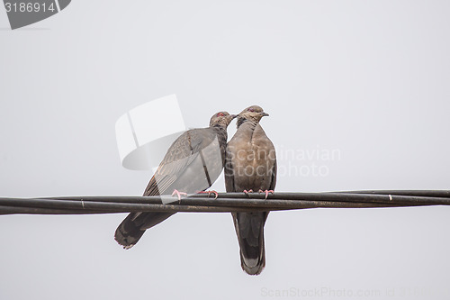
[{"label": "dark tail of the upright right dove, hanging straight below cable", "polygon": [[240,265],[249,275],[260,274],[266,267],[264,224],[268,213],[233,214],[240,247]]}]

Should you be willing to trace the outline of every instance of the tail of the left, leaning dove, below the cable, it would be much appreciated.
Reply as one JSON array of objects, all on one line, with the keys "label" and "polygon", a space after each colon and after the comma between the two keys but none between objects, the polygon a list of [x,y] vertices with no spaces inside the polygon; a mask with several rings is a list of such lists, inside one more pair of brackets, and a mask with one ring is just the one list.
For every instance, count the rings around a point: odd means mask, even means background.
[{"label": "tail of the left, leaning dove, below the cable", "polygon": [[158,223],[163,222],[173,213],[131,213],[117,227],[114,240],[130,249],[139,241],[144,232]]}]

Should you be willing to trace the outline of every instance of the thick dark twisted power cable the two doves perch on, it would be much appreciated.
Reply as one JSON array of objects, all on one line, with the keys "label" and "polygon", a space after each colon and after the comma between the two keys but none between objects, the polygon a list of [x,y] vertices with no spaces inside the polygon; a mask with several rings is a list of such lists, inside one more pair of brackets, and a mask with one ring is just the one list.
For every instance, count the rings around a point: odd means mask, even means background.
[{"label": "thick dark twisted power cable the two doves perch on", "polygon": [[[167,201],[170,203],[165,204]],[[307,208],[371,208],[450,205],[450,191],[348,191],[329,193],[264,194],[220,193],[217,199],[203,194],[178,201],[163,196],[63,196],[0,198],[0,214],[117,214],[130,212],[280,211]]]}]

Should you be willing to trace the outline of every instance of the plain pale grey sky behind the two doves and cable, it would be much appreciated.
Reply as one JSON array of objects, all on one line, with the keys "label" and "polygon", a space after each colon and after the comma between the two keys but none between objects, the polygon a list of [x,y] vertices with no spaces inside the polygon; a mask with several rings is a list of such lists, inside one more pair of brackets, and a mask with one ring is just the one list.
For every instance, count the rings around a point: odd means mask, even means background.
[{"label": "plain pale grey sky behind the two doves and cable", "polygon": [[[278,191],[449,189],[449,15],[445,0],[76,0],[12,32],[0,10],[0,194],[141,195],[151,174],[121,168],[114,123],[173,93],[189,127],[258,104],[277,149],[340,150],[318,162],[328,176]],[[124,216],[1,216],[0,298],[450,295],[447,207],[270,214],[259,277],[229,214],[177,214],[128,251],[112,239]]]}]

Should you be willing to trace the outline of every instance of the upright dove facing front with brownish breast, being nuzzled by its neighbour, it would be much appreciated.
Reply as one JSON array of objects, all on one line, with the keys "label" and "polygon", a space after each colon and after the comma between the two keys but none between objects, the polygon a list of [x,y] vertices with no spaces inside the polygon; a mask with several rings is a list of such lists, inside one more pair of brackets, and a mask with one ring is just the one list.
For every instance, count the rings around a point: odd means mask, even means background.
[{"label": "upright dove facing front with brownish breast, being nuzzled by its neighbour", "polygon": [[[227,146],[225,185],[227,192],[275,189],[275,147],[259,124],[266,114],[257,105],[238,114],[238,131]],[[266,266],[264,224],[269,212],[232,213],[240,247],[241,267],[258,275]]]}]

